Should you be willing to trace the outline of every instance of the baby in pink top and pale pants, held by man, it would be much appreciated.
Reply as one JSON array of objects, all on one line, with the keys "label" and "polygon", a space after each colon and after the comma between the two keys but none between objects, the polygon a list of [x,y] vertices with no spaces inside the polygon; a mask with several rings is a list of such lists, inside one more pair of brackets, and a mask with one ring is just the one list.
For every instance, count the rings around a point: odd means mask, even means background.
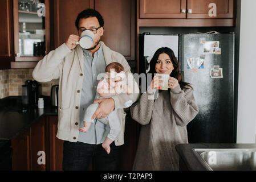
[{"label": "baby in pink top and pale pants, held by man", "polygon": [[[97,92],[95,100],[100,98],[110,98],[112,96],[116,96],[120,93],[126,93],[131,95],[132,88],[126,84],[124,67],[120,63],[110,63],[107,65],[105,69],[105,77],[99,81],[97,85]],[[129,102],[129,103],[128,103]],[[132,101],[127,101],[125,103],[126,107],[132,105]],[[91,119],[92,115],[95,113],[97,107],[99,106],[98,103],[91,104],[87,107],[86,113],[84,114],[84,127],[80,127],[79,131],[86,133],[91,126],[91,123],[95,121],[95,119]],[[108,117],[106,117],[105,122],[103,119],[100,119],[101,122],[104,124],[109,123],[110,131],[107,135],[105,141],[101,146],[105,149],[105,151],[109,154],[110,152],[110,144],[116,139],[117,135],[120,133],[121,126],[119,121],[117,110],[113,110]]]}]

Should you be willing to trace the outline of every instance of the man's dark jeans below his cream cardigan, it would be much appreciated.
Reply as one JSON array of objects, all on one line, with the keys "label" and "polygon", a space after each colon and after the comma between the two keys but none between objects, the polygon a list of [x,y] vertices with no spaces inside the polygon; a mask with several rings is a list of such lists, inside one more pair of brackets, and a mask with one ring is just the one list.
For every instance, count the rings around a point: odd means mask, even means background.
[{"label": "man's dark jeans below his cream cardigan", "polygon": [[91,159],[94,161],[94,170],[113,171],[117,170],[119,147],[115,142],[110,145],[110,154],[104,150],[101,144],[87,144],[82,142],[63,143],[63,170],[84,171],[88,170]]}]

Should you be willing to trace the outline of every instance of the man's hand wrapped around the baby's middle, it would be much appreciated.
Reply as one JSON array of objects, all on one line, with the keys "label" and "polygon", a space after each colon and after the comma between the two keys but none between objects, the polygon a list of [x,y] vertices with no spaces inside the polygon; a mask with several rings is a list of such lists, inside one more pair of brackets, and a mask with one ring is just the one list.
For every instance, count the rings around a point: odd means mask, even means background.
[{"label": "man's hand wrapped around the baby's middle", "polygon": [[92,115],[92,119],[105,118],[115,109],[115,101],[113,98],[101,98],[94,101],[94,104],[95,103],[99,103],[99,106],[97,107],[94,115]]}]

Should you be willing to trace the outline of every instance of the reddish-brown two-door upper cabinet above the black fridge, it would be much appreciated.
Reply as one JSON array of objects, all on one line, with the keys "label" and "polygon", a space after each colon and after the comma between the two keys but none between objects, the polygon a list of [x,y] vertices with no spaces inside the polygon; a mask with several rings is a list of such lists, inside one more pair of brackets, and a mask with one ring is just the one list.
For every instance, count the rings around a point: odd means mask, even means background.
[{"label": "reddish-brown two-door upper cabinet above the black fridge", "polygon": [[139,27],[231,27],[234,0],[137,0]]}]

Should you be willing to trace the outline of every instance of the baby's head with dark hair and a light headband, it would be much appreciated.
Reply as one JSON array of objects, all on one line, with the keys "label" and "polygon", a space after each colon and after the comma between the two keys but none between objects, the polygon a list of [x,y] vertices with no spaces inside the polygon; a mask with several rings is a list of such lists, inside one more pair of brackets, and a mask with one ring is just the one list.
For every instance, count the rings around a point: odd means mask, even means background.
[{"label": "baby's head with dark hair and a light headband", "polygon": [[108,84],[115,87],[117,82],[123,81],[125,77],[124,67],[120,63],[113,62],[107,65],[105,72],[107,72]]}]

